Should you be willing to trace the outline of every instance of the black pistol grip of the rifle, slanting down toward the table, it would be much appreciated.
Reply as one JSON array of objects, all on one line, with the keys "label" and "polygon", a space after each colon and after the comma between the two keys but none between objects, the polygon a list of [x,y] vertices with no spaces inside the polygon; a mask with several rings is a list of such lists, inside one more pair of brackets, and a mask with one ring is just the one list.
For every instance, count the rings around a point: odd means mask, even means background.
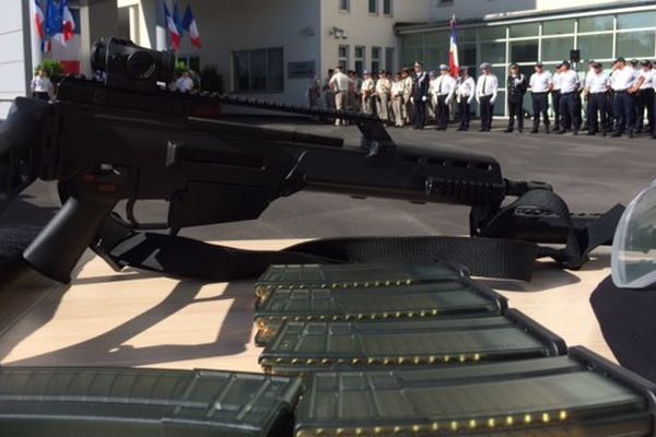
[{"label": "black pistol grip of the rifle, slanting down toward the table", "polygon": [[25,261],[45,276],[71,282],[71,272],[96,239],[96,232],[115,201],[82,201],[68,198],[57,215],[23,252]]}]

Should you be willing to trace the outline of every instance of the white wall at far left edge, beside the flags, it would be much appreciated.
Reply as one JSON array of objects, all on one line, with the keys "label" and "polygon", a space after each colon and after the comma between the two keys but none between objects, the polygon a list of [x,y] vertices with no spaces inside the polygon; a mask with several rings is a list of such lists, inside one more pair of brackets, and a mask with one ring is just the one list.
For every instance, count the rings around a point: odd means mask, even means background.
[{"label": "white wall at far left edge, beside the flags", "polygon": [[[30,31],[24,28],[26,15],[22,0],[2,0],[0,13],[0,101],[24,96],[27,93],[26,70],[31,69]],[[28,23],[28,22],[27,22]],[[0,119],[5,118],[10,103],[0,102]]]}]

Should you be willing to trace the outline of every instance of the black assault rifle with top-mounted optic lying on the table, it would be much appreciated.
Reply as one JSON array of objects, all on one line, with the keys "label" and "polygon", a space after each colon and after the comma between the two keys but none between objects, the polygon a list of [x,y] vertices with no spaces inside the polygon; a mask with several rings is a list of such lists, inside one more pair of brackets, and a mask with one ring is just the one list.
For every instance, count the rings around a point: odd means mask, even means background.
[{"label": "black assault rifle with top-mounted optic lying on the table", "polygon": [[[0,126],[0,201],[36,179],[58,181],[63,205],[24,260],[60,282],[70,281],[90,246],[121,269],[129,262],[115,249],[139,232],[176,234],[254,220],[276,199],[301,190],[471,205],[472,234],[484,236],[492,227],[493,236],[507,237],[523,226],[495,223],[504,199],[551,189],[504,179],[488,156],[399,147],[375,116],[168,91],[162,83],[173,81],[174,57],[129,40],[96,44],[92,67],[103,72],[102,81],[66,78],[51,103],[17,98]],[[226,121],[216,117],[224,106],[344,119],[358,126],[362,142],[348,147],[340,138]],[[168,202],[166,223],[139,223],[134,206],[153,199]],[[122,216],[114,212],[120,201],[127,201]],[[516,206],[515,217],[546,216],[525,203]],[[589,222],[574,220],[573,226],[566,208],[564,215],[555,210],[546,212],[564,216],[564,224],[547,216],[531,225],[541,229],[537,239],[530,233],[523,238],[570,244],[572,228]]]}]

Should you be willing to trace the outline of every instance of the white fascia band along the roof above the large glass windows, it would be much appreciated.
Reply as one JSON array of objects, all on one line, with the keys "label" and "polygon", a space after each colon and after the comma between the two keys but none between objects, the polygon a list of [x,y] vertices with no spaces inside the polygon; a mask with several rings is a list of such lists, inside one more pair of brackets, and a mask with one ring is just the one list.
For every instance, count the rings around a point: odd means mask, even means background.
[{"label": "white fascia band along the roof above the large glass windows", "polygon": [[459,20],[482,19],[485,15],[528,13],[531,11],[552,11],[582,7],[597,7],[606,3],[617,7],[629,7],[634,0],[454,0],[452,4],[441,5],[440,0],[431,0],[431,17],[433,21],[450,19],[453,14]]}]

